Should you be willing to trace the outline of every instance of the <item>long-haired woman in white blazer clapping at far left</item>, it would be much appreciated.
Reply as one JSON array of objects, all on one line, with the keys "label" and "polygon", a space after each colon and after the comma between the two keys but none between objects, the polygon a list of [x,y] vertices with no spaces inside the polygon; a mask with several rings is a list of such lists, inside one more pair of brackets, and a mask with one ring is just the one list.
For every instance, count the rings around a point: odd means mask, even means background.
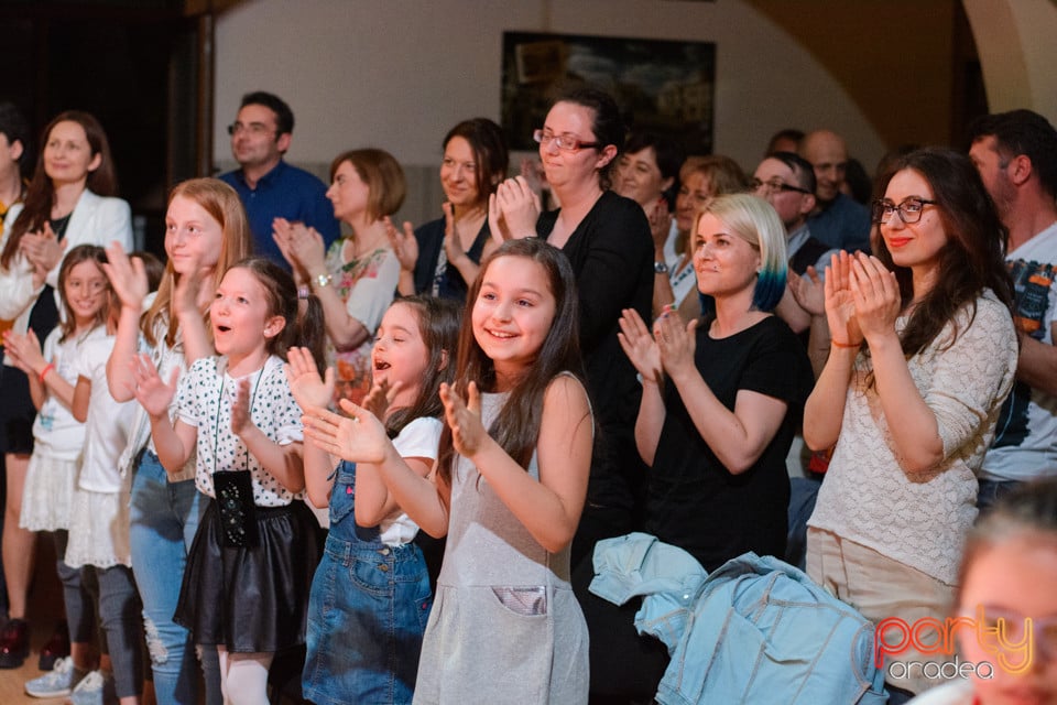
[{"label": "long-haired woman in white blazer clapping at far left", "polygon": [[[131,212],[128,203],[113,197],[117,176],[99,121],[87,112],[63,112],[43,135],[25,199],[8,212],[0,240],[0,319],[15,333],[32,329],[41,341],[58,321],[55,288],[63,253],[77,245],[107,246],[113,240],[127,251],[132,248]],[[10,620],[0,631],[0,668],[20,666],[29,653],[25,601],[34,545],[19,519],[36,412],[25,375],[9,362],[4,359],[0,376],[0,445],[8,482],[2,556]],[[62,561],[65,545],[56,550]],[[74,576],[62,565],[59,573],[69,589]]]}]

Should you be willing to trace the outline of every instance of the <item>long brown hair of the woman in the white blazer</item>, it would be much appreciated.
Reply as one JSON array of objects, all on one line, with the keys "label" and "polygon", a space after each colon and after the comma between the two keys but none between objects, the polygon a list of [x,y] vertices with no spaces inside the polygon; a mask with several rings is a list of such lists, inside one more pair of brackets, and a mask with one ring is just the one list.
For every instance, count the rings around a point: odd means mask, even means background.
[{"label": "long brown hair of the woman in the white blazer", "polygon": [[0,267],[4,269],[11,267],[11,260],[19,251],[19,242],[21,242],[22,236],[31,230],[39,230],[44,227],[44,224],[52,217],[52,206],[55,204],[55,185],[47,172],[44,171],[44,150],[47,148],[47,140],[52,135],[52,130],[59,122],[76,122],[84,128],[91,156],[100,155],[99,166],[88,172],[85,188],[99,196],[118,195],[118,176],[113,169],[113,159],[110,156],[110,142],[107,141],[107,133],[103,132],[99,120],[91,113],[80,110],[67,110],[58,113],[41,132],[36,166],[33,169],[33,178],[30,180],[30,186],[25,189],[22,212],[14,219],[11,226],[11,235],[3,246],[3,251],[0,251]]}]

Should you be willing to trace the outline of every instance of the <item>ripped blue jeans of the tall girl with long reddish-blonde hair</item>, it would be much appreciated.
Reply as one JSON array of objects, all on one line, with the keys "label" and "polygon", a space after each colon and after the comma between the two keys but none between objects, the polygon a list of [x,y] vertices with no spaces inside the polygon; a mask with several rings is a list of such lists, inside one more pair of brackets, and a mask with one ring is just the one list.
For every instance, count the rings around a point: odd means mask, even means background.
[{"label": "ripped blue jeans of the tall girl with long reddish-blonde hair", "polygon": [[[170,482],[157,456],[149,451],[142,454],[132,478],[130,541],[154,692],[161,705],[197,703],[195,649],[187,630],[173,622],[173,614],[205,506],[194,480]],[[203,653],[201,664],[206,703],[219,705],[224,698],[215,649]]]}]

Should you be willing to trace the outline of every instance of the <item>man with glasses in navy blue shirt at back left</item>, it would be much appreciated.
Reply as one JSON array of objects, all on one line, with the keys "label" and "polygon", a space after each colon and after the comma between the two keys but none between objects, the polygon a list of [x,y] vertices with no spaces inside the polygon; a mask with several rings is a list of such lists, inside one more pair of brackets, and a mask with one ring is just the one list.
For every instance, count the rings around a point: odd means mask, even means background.
[{"label": "man with glasses in navy blue shirt at back left", "polygon": [[293,132],[294,113],[282,98],[262,90],[246,94],[228,126],[231,154],[240,169],[220,175],[246,206],[254,251],[287,270],[290,264],[272,239],[275,218],[315,228],[327,247],[340,234],[324,183],[283,160]]}]

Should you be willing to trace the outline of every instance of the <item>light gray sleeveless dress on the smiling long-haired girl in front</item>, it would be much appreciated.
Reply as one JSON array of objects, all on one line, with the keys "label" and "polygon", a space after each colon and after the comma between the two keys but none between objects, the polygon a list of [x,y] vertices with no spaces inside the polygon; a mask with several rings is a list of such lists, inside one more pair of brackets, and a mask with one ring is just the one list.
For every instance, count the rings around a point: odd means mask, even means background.
[{"label": "light gray sleeveless dress on the smiling long-haired girl in front", "polygon": [[[486,429],[506,397],[481,395]],[[535,454],[528,473],[540,479]],[[536,543],[473,464],[458,456],[415,704],[587,703],[587,644],[569,586],[569,547],[548,553]]]}]

